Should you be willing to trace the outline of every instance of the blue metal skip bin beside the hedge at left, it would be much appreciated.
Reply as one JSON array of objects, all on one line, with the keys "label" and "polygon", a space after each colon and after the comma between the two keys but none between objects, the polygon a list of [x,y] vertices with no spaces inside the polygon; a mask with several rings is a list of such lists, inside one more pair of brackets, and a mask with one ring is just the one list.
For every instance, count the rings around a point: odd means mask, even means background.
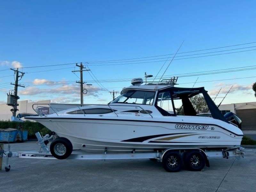
[{"label": "blue metal skip bin beside the hedge at left", "polygon": [[22,140],[28,140],[27,130],[17,130],[13,128],[0,129],[0,142],[15,142]]}]

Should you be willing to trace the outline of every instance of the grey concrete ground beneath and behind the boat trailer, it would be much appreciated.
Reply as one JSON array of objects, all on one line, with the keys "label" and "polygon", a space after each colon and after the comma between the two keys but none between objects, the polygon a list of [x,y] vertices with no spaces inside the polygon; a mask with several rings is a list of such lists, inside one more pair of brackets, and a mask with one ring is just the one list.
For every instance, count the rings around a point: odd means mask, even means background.
[{"label": "grey concrete ground beneath and behind the boat trailer", "polygon": [[[38,149],[36,141],[11,144],[12,151]],[[101,161],[11,157],[10,172],[0,171],[0,191],[255,191],[255,148],[246,149],[245,157],[241,159],[209,160],[211,167],[205,167],[204,171],[183,169],[170,173],[161,163],[148,159]]]}]

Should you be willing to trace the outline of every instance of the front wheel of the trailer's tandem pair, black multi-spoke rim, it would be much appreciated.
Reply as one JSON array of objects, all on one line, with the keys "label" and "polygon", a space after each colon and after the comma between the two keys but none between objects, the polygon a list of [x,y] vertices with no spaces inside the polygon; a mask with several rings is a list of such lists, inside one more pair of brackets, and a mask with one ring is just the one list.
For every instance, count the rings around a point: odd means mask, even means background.
[{"label": "front wheel of the trailer's tandem pair, black multi-spoke rim", "polygon": [[168,172],[178,172],[182,168],[182,156],[177,151],[168,151],[162,160],[163,167]]}]

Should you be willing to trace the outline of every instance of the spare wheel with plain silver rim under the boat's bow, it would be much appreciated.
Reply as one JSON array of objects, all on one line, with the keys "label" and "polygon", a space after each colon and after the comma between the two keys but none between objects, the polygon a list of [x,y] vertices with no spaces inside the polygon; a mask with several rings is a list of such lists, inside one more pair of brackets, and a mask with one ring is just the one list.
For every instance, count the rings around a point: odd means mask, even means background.
[{"label": "spare wheel with plain silver rim under the boat's bow", "polygon": [[66,159],[72,153],[72,143],[64,137],[58,137],[50,145],[52,155],[57,159]]}]

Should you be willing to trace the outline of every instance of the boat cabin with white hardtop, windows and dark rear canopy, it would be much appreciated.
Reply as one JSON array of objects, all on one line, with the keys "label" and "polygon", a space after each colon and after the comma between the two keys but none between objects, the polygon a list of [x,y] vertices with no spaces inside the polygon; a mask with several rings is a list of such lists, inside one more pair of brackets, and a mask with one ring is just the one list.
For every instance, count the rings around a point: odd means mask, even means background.
[{"label": "boat cabin with white hardtop, windows and dark rear canopy", "polygon": [[[191,102],[195,97],[204,103],[199,105],[200,108]],[[227,122],[204,87],[183,88],[170,84],[132,85],[124,88],[121,95],[110,102],[114,103],[153,105],[163,116],[197,116],[202,112],[210,112],[213,118]]]}]

